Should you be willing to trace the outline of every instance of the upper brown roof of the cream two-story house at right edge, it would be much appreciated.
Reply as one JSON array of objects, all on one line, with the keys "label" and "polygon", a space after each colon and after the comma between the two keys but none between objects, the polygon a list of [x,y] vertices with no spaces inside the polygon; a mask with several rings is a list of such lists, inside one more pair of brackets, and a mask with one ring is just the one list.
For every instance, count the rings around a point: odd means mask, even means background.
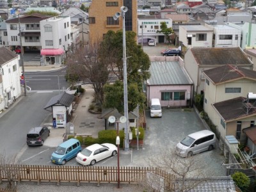
[{"label": "upper brown roof of the cream two-story house at right edge", "polygon": [[253,79],[256,82],[256,71],[236,67],[235,65],[224,65],[204,70],[204,74],[209,77],[214,84],[234,81],[236,79]]}]

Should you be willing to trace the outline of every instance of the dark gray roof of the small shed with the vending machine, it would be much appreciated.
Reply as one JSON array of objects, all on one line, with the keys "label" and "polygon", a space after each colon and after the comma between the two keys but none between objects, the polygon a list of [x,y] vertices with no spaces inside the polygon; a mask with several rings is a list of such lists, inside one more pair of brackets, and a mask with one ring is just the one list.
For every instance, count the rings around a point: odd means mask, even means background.
[{"label": "dark gray roof of the small shed with the vending machine", "polygon": [[63,92],[60,95],[56,95],[56,96],[52,97],[49,100],[49,102],[46,104],[44,109],[50,108],[51,106],[54,106],[56,104],[60,104],[62,106],[69,107],[72,104],[74,98],[75,98],[74,95],[70,95],[66,92]]}]

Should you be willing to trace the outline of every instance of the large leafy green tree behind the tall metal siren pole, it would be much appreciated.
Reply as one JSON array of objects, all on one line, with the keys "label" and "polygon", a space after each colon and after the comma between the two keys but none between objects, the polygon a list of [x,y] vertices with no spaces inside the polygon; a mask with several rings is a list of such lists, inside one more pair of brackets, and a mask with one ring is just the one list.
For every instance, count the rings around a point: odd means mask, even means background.
[{"label": "large leafy green tree behind the tall metal siren pole", "polygon": [[[127,51],[127,83],[136,82],[142,88],[143,81],[150,77],[148,69],[150,60],[148,55],[143,52],[141,45],[138,45],[135,38],[136,33],[127,31],[126,51]],[[122,31],[108,31],[104,36],[101,47],[104,51],[99,52],[100,58],[109,60],[111,70],[119,80],[124,79],[123,73],[123,33]]]}]

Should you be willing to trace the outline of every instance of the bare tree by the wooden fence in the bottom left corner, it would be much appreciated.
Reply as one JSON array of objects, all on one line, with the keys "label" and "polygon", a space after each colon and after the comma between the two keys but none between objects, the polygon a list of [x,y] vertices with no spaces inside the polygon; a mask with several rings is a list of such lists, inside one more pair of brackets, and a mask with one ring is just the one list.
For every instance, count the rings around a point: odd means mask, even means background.
[{"label": "bare tree by the wooden fence in the bottom left corner", "polygon": [[6,179],[8,189],[15,189],[15,181],[20,177],[20,166],[15,161],[15,157],[8,157],[6,153],[0,154],[0,170],[2,173],[1,179]]}]

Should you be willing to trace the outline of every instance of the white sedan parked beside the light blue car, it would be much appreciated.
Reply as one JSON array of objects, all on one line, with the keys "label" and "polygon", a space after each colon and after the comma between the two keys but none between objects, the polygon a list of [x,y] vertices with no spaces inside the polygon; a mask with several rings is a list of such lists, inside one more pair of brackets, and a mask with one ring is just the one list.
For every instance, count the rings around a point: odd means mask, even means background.
[{"label": "white sedan parked beside the light blue car", "polygon": [[117,147],[111,143],[93,144],[79,152],[76,161],[83,165],[94,165],[96,162],[116,154]]}]

